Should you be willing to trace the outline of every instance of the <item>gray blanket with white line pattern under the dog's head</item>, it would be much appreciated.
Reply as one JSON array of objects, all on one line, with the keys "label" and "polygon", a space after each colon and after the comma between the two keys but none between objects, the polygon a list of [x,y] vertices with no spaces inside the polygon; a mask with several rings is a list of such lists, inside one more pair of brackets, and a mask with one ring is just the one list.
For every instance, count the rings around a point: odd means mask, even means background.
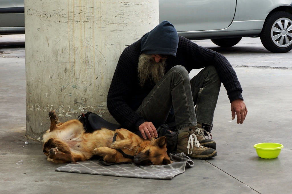
[{"label": "gray blanket with white line pattern under the dog's head", "polygon": [[174,161],[171,164],[150,166],[138,166],[134,163],[112,165],[101,160],[89,160],[69,163],[57,168],[56,171],[116,177],[172,180],[176,175],[185,172],[185,168],[194,165],[194,162],[184,153],[170,154],[170,158]]}]

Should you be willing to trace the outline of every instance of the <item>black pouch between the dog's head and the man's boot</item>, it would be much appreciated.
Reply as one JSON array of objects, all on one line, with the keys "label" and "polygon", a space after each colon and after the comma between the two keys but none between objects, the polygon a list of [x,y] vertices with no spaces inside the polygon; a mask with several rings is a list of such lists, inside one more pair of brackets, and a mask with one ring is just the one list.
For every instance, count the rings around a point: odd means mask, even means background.
[{"label": "black pouch between the dog's head and the man's boot", "polygon": [[174,129],[168,127],[168,124],[163,124],[157,128],[158,137],[166,137],[167,154],[176,152],[178,143],[178,135],[174,132]]}]

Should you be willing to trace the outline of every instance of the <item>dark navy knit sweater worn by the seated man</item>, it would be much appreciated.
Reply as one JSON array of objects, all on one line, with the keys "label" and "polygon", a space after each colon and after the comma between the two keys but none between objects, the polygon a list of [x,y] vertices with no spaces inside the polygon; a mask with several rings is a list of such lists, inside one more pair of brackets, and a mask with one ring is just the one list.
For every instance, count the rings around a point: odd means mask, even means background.
[{"label": "dark navy knit sweater worn by the seated man", "polygon": [[[140,52],[141,39],[122,52],[107,95],[109,113],[130,131],[137,131],[140,124],[146,121],[135,110],[154,87],[150,80],[143,87],[139,85],[137,68]],[[227,90],[230,102],[243,99],[237,75],[223,55],[179,36],[176,56],[167,59],[166,72],[175,65],[184,66],[188,72],[213,65]]]}]

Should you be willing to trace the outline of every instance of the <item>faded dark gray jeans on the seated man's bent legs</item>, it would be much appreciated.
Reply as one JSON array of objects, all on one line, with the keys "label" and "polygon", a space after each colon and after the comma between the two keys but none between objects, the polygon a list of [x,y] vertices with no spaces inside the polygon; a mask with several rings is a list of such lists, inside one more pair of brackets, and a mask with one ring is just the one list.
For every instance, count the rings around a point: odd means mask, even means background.
[{"label": "faded dark gray jeans on the seated man's bent legs", "polygon": [[214,66],[205,67],[190,80],[185,67],[178,65],[160,79],[136,112],[159,127],[173,106],[177,128],[192,127],[197,122],[212,126],[220,86]]}]

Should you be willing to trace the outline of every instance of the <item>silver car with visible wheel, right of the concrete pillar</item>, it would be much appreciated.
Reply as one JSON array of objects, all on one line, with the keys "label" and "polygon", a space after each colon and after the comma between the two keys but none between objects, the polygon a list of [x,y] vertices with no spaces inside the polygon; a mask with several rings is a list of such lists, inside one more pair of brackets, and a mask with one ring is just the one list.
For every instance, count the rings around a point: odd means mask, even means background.
[{"label": "silver car with visible wheel, right of the concrete pillar", "polygon": [[232,47],[260,37],[274,53],[292,49],[292,0],[159,0],[159,21],[171,22],[190,40]]}]

